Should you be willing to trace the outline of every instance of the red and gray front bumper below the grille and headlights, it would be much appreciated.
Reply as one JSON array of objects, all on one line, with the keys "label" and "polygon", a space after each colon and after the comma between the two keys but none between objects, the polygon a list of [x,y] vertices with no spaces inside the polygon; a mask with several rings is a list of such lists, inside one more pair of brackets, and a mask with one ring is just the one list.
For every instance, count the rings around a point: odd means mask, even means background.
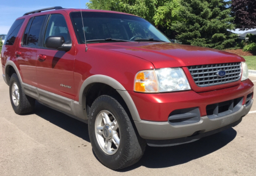
[{"label": "red and gray front bumper below the grille and headlights", "polygon": [[[222,90],[195,93],[184,91],[166,94],[138,94],[130,92],[133,102],[141,117],[141,121],[135,121],[136,129],[143,139],[147,140],[150,146],[170,146],[181,143],[193,142],[206,135],[220,132],[231,128],[241,122],[252,107],[254,84],[251,80],[245,80],[237,86]],[[239,106],[234,111],[224,110],[228,106],[235,106],[235,100]],[[221,116],[212,117],[208,106],[221,105],[218,107]],[[234,104],[233,104],[234,103]],[[172,115],[173,111],[195,108],[197,112],[186,112],[197,114],[193,122],[186,119],[183,122],[172,123],[170,117],[181,117]],[[221,109],[223,108],[223,109]],[[211,108],[210,108],[211,110]],[[181,113],[181,111],[180,111]],[[183,112],[182,112],[183,113]],[[181,113],[181,114],[182,114]],[[226,113],[226,114],[225,114]],[[184,114],[182,114],[183,116]],[[175,121],[175,120],[174,120]]]}]

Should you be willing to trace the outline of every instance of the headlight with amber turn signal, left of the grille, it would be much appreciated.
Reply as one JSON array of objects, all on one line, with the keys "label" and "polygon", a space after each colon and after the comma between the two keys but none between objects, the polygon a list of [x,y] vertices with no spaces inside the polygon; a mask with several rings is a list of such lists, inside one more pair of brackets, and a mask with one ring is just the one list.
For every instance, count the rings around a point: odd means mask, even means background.
[{"label": "headlight with amber turn signal, left of the grille", "polygon": [[136,74],[134,91],[161,93],[190,90],[189,82],[181,68],[161,68],[140,71]]}]

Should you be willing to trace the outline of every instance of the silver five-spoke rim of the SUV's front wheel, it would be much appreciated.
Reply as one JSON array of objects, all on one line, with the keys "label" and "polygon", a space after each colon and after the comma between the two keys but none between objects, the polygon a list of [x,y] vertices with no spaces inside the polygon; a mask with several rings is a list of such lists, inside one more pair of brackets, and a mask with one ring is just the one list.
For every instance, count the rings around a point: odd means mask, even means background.
[{"label": "silver five-spoke rim of the SUV's front wheel", "polygon": [[98,145],[106,154],[116,153],[120,146],[120,131],[111,112],[103,110],[96,116],[95,135]]}]

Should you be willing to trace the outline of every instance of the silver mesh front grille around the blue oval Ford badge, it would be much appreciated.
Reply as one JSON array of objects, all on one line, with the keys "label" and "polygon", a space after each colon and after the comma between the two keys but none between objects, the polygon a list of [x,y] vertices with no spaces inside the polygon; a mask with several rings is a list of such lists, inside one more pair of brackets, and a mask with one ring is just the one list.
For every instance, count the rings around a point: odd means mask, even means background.
[{"label": "silver mesh front grille around the blue oval Ford badge", "polygon": [[[195,65],[187,68],[195,83],[201,87],[235,82],[241,77],[241,62]],[[220,70],[226,71],[226,76],[218,76],[217,73]]]}]

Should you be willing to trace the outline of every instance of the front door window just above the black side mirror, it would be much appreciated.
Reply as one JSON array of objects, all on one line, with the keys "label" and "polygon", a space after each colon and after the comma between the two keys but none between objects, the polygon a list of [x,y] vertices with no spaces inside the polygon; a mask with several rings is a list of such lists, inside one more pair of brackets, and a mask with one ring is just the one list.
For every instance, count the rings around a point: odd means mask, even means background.
[{"label": "front door window just above the black side mirror", "polygon": [[63,15],[53,14],[50,16],[50,19],[45,31],[44,41],[49,36],[63,36],[65,39],[65,42],[70,41],[69,30],[67,29],[67,23]]}]

